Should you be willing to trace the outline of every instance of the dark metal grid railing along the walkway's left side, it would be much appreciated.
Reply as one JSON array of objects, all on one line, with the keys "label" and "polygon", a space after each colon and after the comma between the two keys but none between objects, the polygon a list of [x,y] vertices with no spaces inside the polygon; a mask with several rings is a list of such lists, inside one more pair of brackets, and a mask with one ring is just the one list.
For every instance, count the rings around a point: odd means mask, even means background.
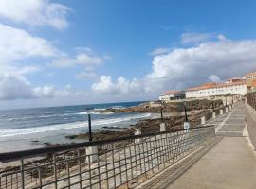
[{"label": "dark metal grid railing along the walkway's left side", "polygon": [[0,172],[0,188],[132,188],[214,135],[209,126],[2,153],[20,165]]}]

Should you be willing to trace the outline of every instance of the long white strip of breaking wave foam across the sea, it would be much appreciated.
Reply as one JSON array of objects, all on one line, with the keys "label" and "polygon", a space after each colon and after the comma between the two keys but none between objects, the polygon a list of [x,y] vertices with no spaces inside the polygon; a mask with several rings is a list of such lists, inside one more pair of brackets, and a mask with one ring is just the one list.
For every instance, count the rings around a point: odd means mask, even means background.
[{"label": "long white strip of breaking wave foam across the sea", "polygon": [[[151,116],[151,113],[142,113],[142,114],[130,115],[130,116],[119,117],[119,118],[93,120],[92,124],[93,126],[101,126],[101,125],[108,125],[108,124],[115,124],[119,122],[130,121],[134,119],[142,119],[150,116]],[[86,122],[56,124],[56,125],[25,128],[25,129],[0,129],[0,138],[26,135],[26,134],[43,133],[43,132],[49,132],[49,131],[58,131],[58,130],[64,130],[64,129],[78,129],[83,127],[88,127]]]}]

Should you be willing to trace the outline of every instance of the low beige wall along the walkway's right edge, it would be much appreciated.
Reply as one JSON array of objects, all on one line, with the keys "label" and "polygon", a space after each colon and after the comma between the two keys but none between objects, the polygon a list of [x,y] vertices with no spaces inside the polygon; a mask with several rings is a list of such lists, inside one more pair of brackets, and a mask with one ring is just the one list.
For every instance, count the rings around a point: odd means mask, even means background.
[{"label": "low beige wall along the walkway's right edge", "polygon": [[250,141],[256,150],[256,111],[246,103],[247,107],[247,129]]}]

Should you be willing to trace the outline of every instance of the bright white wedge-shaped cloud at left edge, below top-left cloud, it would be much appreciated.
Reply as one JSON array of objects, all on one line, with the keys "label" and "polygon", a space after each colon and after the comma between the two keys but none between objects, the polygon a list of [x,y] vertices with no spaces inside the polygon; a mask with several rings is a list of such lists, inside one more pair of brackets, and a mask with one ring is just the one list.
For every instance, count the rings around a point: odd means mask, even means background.
[{"label": "bright white wedge-shaped cloud at left edge, below top-left cloud", "polygon": [[44,38],[0,24],[0,63],[30,57],[52,57],[59,51]]}]

